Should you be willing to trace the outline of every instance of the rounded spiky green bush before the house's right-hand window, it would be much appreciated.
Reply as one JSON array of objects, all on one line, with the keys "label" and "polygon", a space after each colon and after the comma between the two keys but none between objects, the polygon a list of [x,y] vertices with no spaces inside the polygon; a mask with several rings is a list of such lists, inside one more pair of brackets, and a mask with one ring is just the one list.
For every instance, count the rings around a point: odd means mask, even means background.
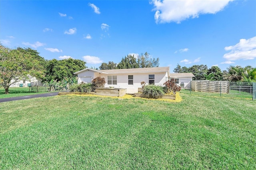
[{"label": "rounded spiky green bush before the house's right-hand window", "polygon": [[142,93],[147,98],[152,97],[153,99],[162,98],[165,94],[163,87],[159,85],[145,85]]}]

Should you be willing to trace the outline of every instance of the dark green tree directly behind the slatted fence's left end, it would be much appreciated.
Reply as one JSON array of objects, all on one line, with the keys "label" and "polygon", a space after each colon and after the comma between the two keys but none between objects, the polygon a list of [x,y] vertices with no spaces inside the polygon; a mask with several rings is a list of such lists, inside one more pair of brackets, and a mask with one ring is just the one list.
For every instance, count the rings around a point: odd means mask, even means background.
[{"label": "dark green tree directly behind the slatted fence's left end", "polygon": [[188,71],[195,75],[194,80],[203,80],[205,79],[208,68],[207,65],[193,65],[188,68]]}]

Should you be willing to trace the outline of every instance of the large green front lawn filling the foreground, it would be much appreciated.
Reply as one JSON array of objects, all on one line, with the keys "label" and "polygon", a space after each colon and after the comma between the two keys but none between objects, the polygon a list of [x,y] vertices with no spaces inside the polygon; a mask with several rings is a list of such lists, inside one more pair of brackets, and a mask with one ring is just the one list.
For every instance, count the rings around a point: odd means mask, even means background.
[{"label": "large green front lawn filling the foreground", "polygon": [[256,101],[180,95],[0,103],[0,169],[256,169]]}]

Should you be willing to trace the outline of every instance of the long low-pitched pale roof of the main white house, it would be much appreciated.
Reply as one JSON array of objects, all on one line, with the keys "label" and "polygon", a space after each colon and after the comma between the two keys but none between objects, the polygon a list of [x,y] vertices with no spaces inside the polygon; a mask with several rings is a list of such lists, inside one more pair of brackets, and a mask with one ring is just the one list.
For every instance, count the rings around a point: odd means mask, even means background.
[{"label": "long low-pitched pale roof of the main white house", "polygon": [[105,74],[122,74],[122,73],[161,73],[161,72],[168,72],[170,67],[149,67],[149,68],[135,68],[135,69],[112,69],[112,70],[94,70],[94,69],[83,69],[80,71],[75,72],[74,74],[78,74],[80,72],[91,70],[98,73],[105,73]]}]

